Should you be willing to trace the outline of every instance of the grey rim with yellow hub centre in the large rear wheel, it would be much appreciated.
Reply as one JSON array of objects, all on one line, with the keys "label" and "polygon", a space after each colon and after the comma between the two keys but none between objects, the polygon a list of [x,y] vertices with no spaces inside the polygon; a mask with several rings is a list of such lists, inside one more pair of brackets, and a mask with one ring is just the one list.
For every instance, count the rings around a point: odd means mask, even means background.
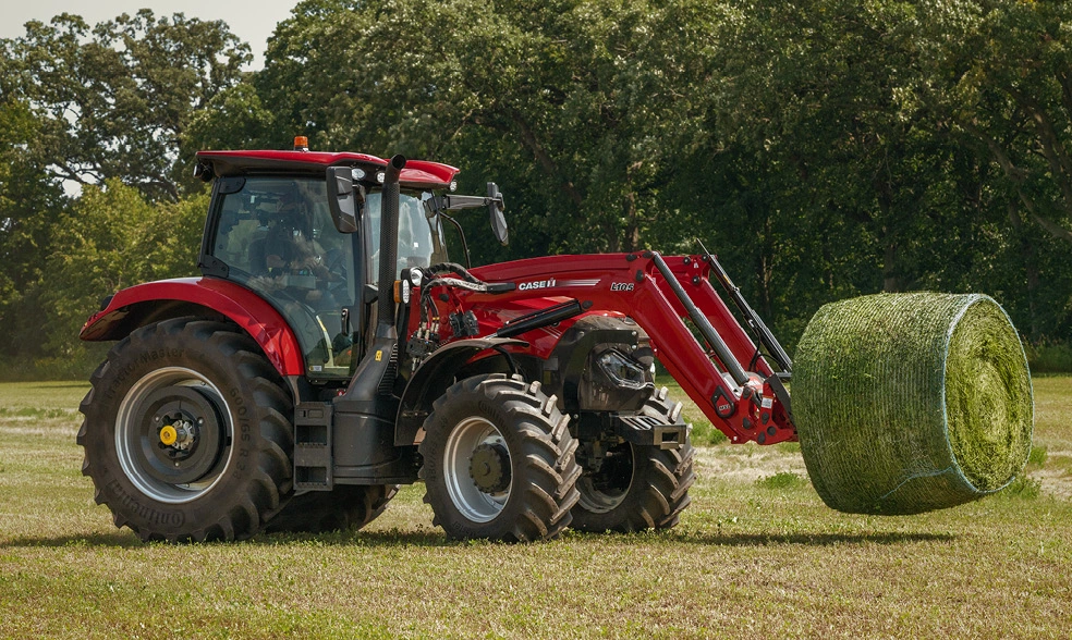
[{"label": "grey rim with yellow hub centre in the large rear wheel", "polygon": [[115,453],[126,478],[148,497],[197,500],[231,463],[230,409],[205,376],[157,369],[126,392],[115,417]]}]

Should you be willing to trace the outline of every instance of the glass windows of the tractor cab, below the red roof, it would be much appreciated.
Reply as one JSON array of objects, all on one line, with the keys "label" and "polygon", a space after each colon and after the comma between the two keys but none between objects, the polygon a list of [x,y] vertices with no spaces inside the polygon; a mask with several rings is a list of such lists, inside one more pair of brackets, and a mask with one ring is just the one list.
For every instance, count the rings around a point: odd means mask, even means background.
[{"label": "glass windows of the tractor cab, below the red roof", "polygon": [[[400,195],[397,272],[447,260],[427,189]],[[344,380],[361,358],[379,276],[380,193],[364,199],[355,233],[332,222],[320,176],[249,175],[222,181],[212,200],[203,269],[268,300],[301,343],[309,379]]]}]

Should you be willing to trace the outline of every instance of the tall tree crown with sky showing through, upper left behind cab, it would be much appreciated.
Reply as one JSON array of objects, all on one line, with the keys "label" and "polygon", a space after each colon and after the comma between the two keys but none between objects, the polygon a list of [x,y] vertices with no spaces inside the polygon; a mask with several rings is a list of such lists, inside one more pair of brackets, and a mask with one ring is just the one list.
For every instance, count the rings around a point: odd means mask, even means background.
[{"label": "tall tree crown with sky showing through, upper left behind cab", "polygon": [[222,22],[147,9],[92,29],[68,13],[33,21],[4,49],[4,86],[40,120],[32,150],[56,177],[120,177],[171,200],[193,184],[179,157],[192,114],[237,83],[251,59]]}]

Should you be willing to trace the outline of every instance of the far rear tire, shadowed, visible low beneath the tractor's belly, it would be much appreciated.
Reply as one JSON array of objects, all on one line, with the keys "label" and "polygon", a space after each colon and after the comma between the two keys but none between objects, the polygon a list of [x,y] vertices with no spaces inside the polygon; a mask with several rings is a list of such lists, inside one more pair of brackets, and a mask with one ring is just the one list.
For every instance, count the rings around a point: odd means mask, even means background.
[{"label": "far rear tire, shadowed, visible low beneath the tractor's belly", "polygon": [[398,492],[398,484],[370,484],[295,495],[265,531],[321,533],[361,529],[382,514]]}]

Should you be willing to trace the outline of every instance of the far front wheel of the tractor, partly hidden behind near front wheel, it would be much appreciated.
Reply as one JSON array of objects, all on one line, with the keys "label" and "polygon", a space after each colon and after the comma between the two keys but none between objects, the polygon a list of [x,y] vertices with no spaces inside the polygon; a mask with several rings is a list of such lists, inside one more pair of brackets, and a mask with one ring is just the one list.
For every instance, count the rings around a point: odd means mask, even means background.
[{"label": "far front wheel of the tractor, partly hidden behind near front wheel", "polygon": [[[680,405],[667,398],[666,387],[641,411],[668,424],[683,424]],[[689,488],[696,480],[694,454],[687,436],[679,448],[629,442],[611,447],[599,468],[585,469],[577,481],[581,499],[573,507],[571,526],[593,532],[673,527],[691,502]]]}]

